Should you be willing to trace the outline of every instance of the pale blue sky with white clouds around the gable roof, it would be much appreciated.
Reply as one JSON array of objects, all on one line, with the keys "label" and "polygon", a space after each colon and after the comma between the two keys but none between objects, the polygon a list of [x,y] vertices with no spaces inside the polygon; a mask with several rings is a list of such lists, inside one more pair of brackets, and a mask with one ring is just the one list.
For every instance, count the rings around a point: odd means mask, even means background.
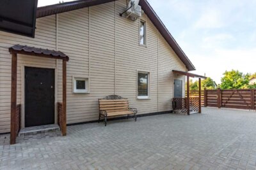
[{"label": "pale blue sky with white clouds around the gable roof", "polygon": [[[147,1],[195,65],[192,73],[220,83],[226,70],[256,72],[255,0]],[[38,0],[38,6],[58,2]]]}]

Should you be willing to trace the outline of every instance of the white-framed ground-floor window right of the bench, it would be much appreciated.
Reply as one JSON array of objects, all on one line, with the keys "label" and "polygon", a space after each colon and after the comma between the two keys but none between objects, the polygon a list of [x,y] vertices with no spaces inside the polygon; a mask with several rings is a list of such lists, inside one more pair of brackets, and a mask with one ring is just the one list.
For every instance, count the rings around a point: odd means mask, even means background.
[{"label": "white-framed ground-floor window right of the bench", "polygon": [[138,71],[138,99],[149,97],[149,73]]}]

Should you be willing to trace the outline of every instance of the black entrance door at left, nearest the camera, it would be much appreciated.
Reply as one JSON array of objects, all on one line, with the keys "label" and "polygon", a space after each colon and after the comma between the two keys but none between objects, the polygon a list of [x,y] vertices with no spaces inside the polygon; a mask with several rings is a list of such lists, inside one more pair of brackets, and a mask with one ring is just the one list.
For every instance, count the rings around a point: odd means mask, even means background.
[{"label": "black entrance door at left, nearest the camera", "polygon": [[25,67],[25,127],[54,124],[54,69]]}]

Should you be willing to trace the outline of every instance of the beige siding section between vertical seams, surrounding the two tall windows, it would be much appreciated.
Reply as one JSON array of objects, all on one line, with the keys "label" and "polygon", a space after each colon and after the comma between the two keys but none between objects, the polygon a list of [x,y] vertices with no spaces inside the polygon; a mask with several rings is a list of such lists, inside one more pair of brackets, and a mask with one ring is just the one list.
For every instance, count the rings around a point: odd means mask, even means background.
[{"label": "beige siding section between vertical seams, surrounding the two tall windows", "polygon": [[[126,1],[116,2],[116,15]],[[147,29],[147,47],[139,45],[140,20],[116,17],[116,94],[127,97],[139,113],[157,112],[157,30],[143,15]],[[124,36],[125,35],[125,36]],[[150,99],[137,99],[137,71],[150,73]]]}]

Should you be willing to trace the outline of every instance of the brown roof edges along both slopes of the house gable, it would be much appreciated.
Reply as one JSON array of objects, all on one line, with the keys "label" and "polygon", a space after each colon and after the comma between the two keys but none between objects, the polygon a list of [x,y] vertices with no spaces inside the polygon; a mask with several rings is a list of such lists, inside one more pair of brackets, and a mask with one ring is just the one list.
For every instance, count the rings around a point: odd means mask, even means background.
[{"label": "brown roof edges along both slopes of the house gable", "polygon": [[[67,11],[77,10],[80,8],[85,8],[88,6],[94,6],[97,4],[109,3],[116,0],[79,0],[79,1],[71,1],[68,3],[61,4],[52,4],[49,6],[42,6],[37,8],[36,17],[46,17],[49,15],[54,15],[57,13],[63,13]],[[163,22],[157,16],[156,12],[147,2],[147,0],[140,0],[140,6],[147,14],[148,18],[152,21],[158,31],[161,33],[163,38],[168,42],[168,44],[172,47],[173,51],[178,55],[180,60],[185,64],[188,71],[195,70],[195,66],[193,66],[192,62],[188,59],[187,55],[182,51],[178,43],[173,38],[172,34],[166,29]]]}]

